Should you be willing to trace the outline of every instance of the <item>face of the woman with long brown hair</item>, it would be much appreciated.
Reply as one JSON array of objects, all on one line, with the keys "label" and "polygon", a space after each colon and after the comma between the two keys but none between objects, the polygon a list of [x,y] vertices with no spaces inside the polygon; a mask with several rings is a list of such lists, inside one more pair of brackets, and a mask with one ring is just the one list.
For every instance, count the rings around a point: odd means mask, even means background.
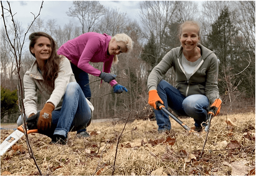
[{"label": "face of the woman with long brown hair", "polygon": [[52,53],[51,41],[44,36],[39,37],[33,48],[31,48],[31,53],[35,54],[35,58],[38,63],[49,59]]}]

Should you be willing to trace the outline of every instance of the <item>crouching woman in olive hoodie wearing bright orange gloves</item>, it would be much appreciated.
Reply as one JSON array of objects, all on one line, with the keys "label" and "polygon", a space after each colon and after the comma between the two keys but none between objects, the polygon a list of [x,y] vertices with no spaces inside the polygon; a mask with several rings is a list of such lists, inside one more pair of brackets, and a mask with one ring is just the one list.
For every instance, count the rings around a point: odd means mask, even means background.
[{"label": "crouching woman in olive hoodie wearing bright orange gloves", "polygon": [[[171,123],[166,113],[157,110],[157,102],[178,115],[194,118],[196,131],[202,130],[209,109],[216,110],[213,115],[220,112],[218,60],[211,50],[199,44],[199,34],[198,22],[184,22],[179,31],[181,46],[170,50],[148,76],[148,103],[155,108],[159,133],[169,131]],[[176,75],[175,86],[162,80],[171,67]]]}]

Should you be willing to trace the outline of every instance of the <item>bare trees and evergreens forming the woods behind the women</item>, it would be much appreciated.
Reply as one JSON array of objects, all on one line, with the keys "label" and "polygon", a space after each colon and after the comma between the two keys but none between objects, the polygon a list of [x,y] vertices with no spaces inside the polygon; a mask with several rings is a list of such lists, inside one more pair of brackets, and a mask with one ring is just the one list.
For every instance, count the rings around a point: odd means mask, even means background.
[{"label": "bare trees and evergreens forming the woods behind the women", "polygon": [[[135,117],[147,116],[149,111],[142,112],[149,108],[148,75],[169,50],[180,46],[179,25],[187,20],[200,23],[200,43],[218,57],[218,87],[224,104],[229,104],[229,109],[237,102],[255,107],[255,1],[203,1],[200,9],[196,1],[141,1],[139,8],[139,21],[135,21],[117,9],[105,8],[99,1],[73,1],[66,14],[78,20],[79,25],[70,21],[59,26],[54,17],[46,21],[39,15],[29,30],[29,34],[48,33],[58,47],[86,32],[110,36],[126,33],[131,37],[133,50],[118,55],[119,63],[111,69],[128,92],[114,94],[109,84],[100,84],[99,77],[90,75],[94,119],[127,117],[130,111]],[[28,27],[24,28],[18,19],[15,23],[18,35],[24,36]],[[7,27],[11,36],[12,25]],[[6,37],[1,28],[1,123],[14,123],[20,114],[17,106],[12,105],[17,100],[17,65]],[[23,47],[22,78],[35,60],[29,47]],[[102,70],[103,63],[90,64]],[[175,85],[173,69],[164,79]],[[39,94],[38,109],[45,101]]]}]

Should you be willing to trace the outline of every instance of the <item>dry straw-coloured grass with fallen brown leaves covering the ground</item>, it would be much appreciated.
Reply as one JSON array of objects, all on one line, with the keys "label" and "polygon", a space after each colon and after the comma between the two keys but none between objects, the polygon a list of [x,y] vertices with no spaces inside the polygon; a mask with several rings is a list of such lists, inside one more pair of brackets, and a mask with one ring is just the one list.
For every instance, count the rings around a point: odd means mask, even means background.
[{"label": "dry straw-coloured grass with fallen brown leaves covering the ground", "polygon": [[[227,118],[237,126],[227,125]],[[182,121],[194,126],[192,118]],[[170,135],[157,134],[156,121],[127,123],[114,175],[234,175],[241,168],[255,175],[255,112],[214,117],[202,157],[206,133],[198,137],[173,119],[171,122]],[[70,132],[64,146],[49,145],[51,139],[41,134],[29,134],[29,138],[43,175],[112,175],[117,137],[123,127],[123,122],[91,124],[88,139],[78,139]],[[1,142],[11,132],[1,130]],[[1,156],[1,175],[39,175],[27,153],[25,137]]]}]

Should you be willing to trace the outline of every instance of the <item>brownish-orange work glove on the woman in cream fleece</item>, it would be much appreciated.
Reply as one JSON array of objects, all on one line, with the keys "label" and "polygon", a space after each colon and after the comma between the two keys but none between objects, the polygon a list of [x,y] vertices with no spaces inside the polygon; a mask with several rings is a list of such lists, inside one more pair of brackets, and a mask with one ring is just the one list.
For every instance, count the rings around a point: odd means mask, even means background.
[{"label": "brownish-orange work glove on the woman in cream fleece", "polygon": [[37,122],[38,130],[47,130],[51,128],[52,123],[52,111],[54,109],[54,105],[51,103],[45,103],[44,108],[40,112],[40,116]]}]

